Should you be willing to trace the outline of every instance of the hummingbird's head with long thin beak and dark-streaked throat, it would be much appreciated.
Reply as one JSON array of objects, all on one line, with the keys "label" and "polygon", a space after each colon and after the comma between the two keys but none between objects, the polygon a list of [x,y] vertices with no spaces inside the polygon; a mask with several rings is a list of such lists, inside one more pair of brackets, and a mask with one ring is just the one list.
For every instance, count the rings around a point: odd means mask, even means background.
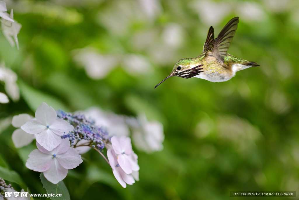
[{"label": "hummingbird's head with long thin beak and dark-streaked throat", "polygon": [[[174,65],[169,76],[166,77],[164,80],[173,76],[182,77],[182,78],[191,78],[198,75],[200,72],[203,72],[200,71],[202,69],[201,66],[203,65],[196,65],[195,63],[192,63],[192,60],[193,59],[189,59],[189,58],[180,59]],[[162,80],[158,85],[156,85],[155,88],[158,87],[161,83],[163,83],[164,80]]]}]

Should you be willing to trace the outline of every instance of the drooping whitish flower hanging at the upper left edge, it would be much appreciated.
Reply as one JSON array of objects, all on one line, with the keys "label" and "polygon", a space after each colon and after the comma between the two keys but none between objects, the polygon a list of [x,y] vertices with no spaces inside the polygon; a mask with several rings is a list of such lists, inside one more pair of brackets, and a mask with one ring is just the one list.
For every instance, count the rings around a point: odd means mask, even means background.
[{"label": "drooping whitish flower hanging at the upper left edge", "polygon": [[[10,11],[10,19],[13,19],[13,9]],[[19,24],[17,21],[11,21],[7,19],[1,20],[1,29],[3,32],[3,35],[7,39],[7,41],[10,43],[12,47],[15,46],[15,42],[17,45],[17,48],[19,49],[19,40],[17,35],[19,34],[20,30],[22,28],[22,25]],[[15,42],[13,41],[15,40]]]}]

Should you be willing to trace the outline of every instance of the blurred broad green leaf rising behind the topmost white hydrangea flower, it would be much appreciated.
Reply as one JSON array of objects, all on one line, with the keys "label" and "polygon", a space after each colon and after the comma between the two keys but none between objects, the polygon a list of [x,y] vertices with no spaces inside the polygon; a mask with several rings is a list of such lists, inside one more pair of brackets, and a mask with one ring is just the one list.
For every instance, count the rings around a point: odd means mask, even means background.
[{"label": "blurred broad green leaf rising behind the topmost white hydrangea flower", "polygon": [[42,91],[31,88],[21,81],[19,81],[19,86],[22,97],[33,112],[36,111],[36,109],[42,102],[45,102],[49,106],[52,106],[55,110],[62,109],[66,112],[69,111],[64,103],[62,103],[59,99]]}]

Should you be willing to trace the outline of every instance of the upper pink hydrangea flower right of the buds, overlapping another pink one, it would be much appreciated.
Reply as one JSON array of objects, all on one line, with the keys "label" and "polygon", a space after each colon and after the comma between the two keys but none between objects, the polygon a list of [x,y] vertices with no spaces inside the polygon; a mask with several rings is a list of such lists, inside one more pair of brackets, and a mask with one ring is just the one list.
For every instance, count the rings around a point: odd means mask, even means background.
[{"label": "upper pink hydrangea flower right of the buds, overlapping another pink one", "polygon": [[134,158],[136,154],[132,150],[130,138],[125,136],[120,136],[119,138],[113,136],[111,138],[111,144],[114,152],[117,154],[118,164],[124,172],[130,174],[132,173],[132,171],[139,170],[139,165],[137,164]]}]

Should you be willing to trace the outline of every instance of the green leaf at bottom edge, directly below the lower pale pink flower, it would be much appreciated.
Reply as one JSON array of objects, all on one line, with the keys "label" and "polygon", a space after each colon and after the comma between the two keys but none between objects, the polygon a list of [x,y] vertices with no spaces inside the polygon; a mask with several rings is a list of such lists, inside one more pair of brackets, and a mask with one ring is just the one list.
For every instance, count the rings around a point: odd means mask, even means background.
[{"label": "green leaf at bottom edge, directly below the lower pale pink flower", "polygon": [[40,173],[39,178],[48,194],[51,194],[51,193],[62,194],[61,197],[50,196],[50,199],[52,199],[52,200],[70,200],[70,194],[68,193],[68,189],[66,188],[63,181],[59,181],[58,184],[53,184],[45,178],[43,172]]}]

